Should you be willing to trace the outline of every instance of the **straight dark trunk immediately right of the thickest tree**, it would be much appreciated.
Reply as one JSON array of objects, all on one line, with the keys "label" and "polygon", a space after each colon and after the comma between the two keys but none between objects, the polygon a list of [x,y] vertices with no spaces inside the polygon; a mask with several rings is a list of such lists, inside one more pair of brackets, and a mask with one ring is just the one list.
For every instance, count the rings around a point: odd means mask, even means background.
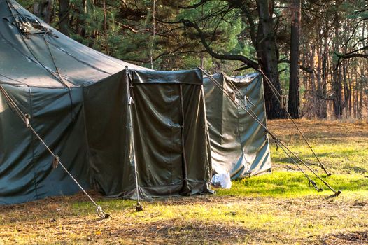
[{"label": "straight dark trunk immediately right of the thickest tree", "polygon": [[299,118],[299,38],[300,38],[300,1],[290,0],[290,82],[288,111],[292,118]]}]

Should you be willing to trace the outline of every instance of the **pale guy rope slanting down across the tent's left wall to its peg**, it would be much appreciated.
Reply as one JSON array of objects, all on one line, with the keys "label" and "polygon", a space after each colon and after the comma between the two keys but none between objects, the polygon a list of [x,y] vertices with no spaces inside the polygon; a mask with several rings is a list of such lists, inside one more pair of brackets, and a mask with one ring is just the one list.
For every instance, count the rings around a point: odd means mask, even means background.
[{"label": "pale guy rope slanting down across the tent's left wall to its peg", "polygon": [[29,128],[29,130],[31,130],[31,132],[38,138],[39,141],[41,141],[41,143],[43,144],[43,146],[45,146],[45,148],[48,150],[48,152],[52,155],[52,157],[54,158],[54,160],[52,161],[52,166],[54,166],[54,163],[55,162],[57,162],[57,165],[62,166],[62,169],[64,169],[64,171],[66,172],[66,174],[68,174],[71,177],[71,179],[77,184],[77,186],[80,188],[80,190],[82,190],[83,193],[94,204],[94,206],[96,207],[97,215],[100,218],[109,218],[110,217],[110,214],[107,214],[106,212],[104,212],[102,210],[102,208],[99,205],[97,205],[96,202],[94,202],[94,200],[92,199],[92,197],[90,195],[88,195],[88,193],[85,191],[85,189],[82,186],[80,186],[80,183],[78,183],[78,181],[73,177],[73,175],[68,171],[68,169],[66,169],[66,167],[62,164],[62,162],[59,160],[59,156],[56,155],[53,151],[51,151],[51,149],[48,147],[48,145],[45,143],[45,141],[43,141],[43,139],[36,132],[36,130],[34,130],[34,128],[29,124],[29,119],[30,119],[29,115],[27,113],[23,113],[22,112],[22,110],[19,108],[19,106],[17,106],[17,104],[14,102],[13,98],[10,97],[10,95],[8,94],[8,92],[6,92],[6,90],[1,85],[0,85],[0,91],[4,95],[4,97],[5,97],[6,101],[8,102],[8,104],[13,108],[13,110],[15,110],[15,112],[17,113],[17,115],[20,116],[20,119],[22,119],[22,121],[24,122],[25,126],[27,128]]}]

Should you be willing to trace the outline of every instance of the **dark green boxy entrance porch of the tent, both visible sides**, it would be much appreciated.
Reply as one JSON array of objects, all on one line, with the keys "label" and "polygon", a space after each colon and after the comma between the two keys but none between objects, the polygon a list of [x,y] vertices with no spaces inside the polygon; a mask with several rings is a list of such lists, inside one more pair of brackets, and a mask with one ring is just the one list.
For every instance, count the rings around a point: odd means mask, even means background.
[{"label": "dark green boxy entrance porch of the tent, both visible sides", "polygon": [[125,70],[85,87],[94,186],[125,198],[211,192],[201,85],[200,71]]}]

